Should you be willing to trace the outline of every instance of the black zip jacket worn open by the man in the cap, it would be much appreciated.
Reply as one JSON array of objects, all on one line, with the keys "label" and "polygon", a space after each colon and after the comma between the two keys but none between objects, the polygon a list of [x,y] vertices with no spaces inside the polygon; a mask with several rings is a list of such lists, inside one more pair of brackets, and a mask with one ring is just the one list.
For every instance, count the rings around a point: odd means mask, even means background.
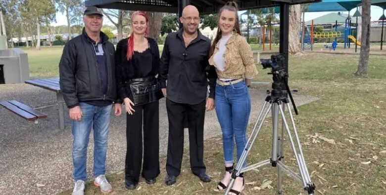
[{"label": "black zip jacket worn open by the man in the cap", "polygon": [[82,35],[66,43],[59,62],[60,89],[68,108],[83,101],[116,101],[115,48],[103,32],[100,32],[100,35],[100,43],[106,55],[107,93],[103,92],[94,50],[95,41],[90,39],[83,29]]}]

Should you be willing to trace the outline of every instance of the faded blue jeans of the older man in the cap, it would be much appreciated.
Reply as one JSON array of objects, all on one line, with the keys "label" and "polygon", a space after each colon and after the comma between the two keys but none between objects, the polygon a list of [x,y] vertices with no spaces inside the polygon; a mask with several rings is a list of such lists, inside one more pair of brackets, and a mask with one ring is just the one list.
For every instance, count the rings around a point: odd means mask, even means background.
[{"label": "faded blue jeans of the older man in the cap", "polygon": [[73,176],[75,181],[86,181],[87,146],[91,127],[94,130],[94,176],[97,177],[106,172],[108,128],[112,105],[99,107],[81,102],[80,107],[83,113],[82,119],[72,120]]}]

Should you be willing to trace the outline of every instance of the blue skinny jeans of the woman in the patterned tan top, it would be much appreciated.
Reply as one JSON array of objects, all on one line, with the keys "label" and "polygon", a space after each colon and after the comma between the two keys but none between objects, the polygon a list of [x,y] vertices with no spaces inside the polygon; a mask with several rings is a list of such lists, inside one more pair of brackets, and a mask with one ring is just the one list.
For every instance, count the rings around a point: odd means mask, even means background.
[{"label": "blue skinny jeans of the woman in the patterned tan top", "polygon": [[[237,146],[237,159],[240,160],[245,148],[246,128],[251,109],[248,88],[244,81],[216,86],[215,105],[217,118],[223,133],[224,160],[226,164],[233,163],[234,138]],[[245,167],[246,160],[242,165]]]}]

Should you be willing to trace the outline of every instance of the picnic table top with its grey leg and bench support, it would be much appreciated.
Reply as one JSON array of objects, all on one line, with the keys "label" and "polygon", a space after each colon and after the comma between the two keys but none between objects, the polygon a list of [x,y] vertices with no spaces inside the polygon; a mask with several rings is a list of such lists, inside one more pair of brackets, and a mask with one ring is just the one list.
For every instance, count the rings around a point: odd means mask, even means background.
[{"label": "picnic table top with its grey leg and bench support", "polygon": [[24,82],[56,93],[57,104],[35,108],[35,110],[57,106],[58,116],[59,116],[59,119],[58,119],[59,129],[63,130],[64,129],[64,100],[63,100],[63,94],[60,90],[59,78],[58,77],[39,78],[39,79],[26,80]]}]

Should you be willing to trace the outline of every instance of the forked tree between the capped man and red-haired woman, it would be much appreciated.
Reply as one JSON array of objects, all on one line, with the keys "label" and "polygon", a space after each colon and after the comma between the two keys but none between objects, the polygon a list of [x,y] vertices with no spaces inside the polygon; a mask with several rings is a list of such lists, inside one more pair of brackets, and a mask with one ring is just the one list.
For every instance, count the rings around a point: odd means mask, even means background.
[{"label": "forked tree between the capped man and red-haired woman", "polygon": [[[133,11],[127,11],[127,10],[103,10],[104,15],[110,20],[111,23],[117,27],[118,30],[118,40],[120,41],[123,39],[123,28],[130,25],[130,15]],[[118,20],[118,22],[114,22],[112,18],[115,18]]]}]

